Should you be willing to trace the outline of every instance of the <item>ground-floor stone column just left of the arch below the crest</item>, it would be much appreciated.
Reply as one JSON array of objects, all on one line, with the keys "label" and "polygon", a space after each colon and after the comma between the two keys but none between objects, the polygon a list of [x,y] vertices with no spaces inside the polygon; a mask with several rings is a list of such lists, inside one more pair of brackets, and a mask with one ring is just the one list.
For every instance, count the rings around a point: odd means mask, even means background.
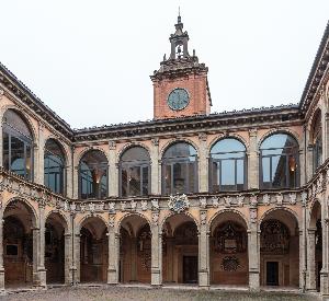
[{"label": "ground-floor stone column just left of the arch below the crest", "polygon": [[162,285],[162,233],[159,229],[159,212],[152,212],[151,224],[151,285]]}]

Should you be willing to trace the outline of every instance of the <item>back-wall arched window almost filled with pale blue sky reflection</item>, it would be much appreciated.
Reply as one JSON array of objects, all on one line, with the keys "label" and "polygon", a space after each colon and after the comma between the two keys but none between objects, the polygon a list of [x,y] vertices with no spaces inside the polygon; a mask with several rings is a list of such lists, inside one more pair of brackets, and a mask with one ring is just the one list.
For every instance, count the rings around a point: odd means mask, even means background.
[{"label": "back-wall arched window almost filled with pale blue sky reflection", "polygon": [[209,187],[214,193],[246,188],[246,148],[237,139],[218,141],[211,150]]}]

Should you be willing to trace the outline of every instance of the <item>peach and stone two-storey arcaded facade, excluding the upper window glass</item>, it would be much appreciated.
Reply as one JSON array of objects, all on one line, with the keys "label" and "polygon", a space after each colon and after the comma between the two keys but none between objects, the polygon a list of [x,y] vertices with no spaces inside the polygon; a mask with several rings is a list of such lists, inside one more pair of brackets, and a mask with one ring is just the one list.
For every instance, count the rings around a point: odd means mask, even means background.
[{"label": "peach and stone two-storey arcaded facade, excluding the upper window glass", "polygon": [[[2,121],[0,289],[135,281],[259,290],[272,283],[329,296],[328,43],[329,27],[299,105],[208,114],[204,78],[193,101],[204,95],[201,111],[193,105],[178,118],[156,113],[152,121],[80,130],[72,130],[1,65],[0,118],[9,109],[24,116],[33,139],[33,177],[27,181],[5,169]],[[161,81],[158,73],[152,80]],[[190,84],[194,82],[189,77],[184,86]],[[164,106],[163,95],[155,97]],[[322,157],[314,169],[313,124],[318,112]],[[260,147],[277,132],[297,141],[296,187],[260,185]],[[45,146],[50,138],[65,153],[64,194],[55,194],[44,183]],[[245,189],[211,189],[209,153],[223,138],[235,138],[246,147]],[[196,150],[197,192],[164,195],[162,158],[177,141]],[[132,147],[143,147],[149,154],[150,190],[122,197],[121,158]],[[89,150],[99,150],[107,161],[107,194],[102,198],[80,198],[79,165]]]}]

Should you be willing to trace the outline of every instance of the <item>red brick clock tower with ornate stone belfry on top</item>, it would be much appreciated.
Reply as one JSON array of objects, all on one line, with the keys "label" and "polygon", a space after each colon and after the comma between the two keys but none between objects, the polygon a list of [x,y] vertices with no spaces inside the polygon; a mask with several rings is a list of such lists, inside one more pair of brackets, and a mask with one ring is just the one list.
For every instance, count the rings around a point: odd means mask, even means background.
[{"label": "red brick clock tower with ornate stone belfry on top", "polygon": [[154,82],[156,119],[208,115],[212,106],[207,81],[208,68],[198,62],[195,50],[189,53],[189,34],[183,32],[181,16],[169,37],[171,53],[163,56],[160,69],[150,76]]}]

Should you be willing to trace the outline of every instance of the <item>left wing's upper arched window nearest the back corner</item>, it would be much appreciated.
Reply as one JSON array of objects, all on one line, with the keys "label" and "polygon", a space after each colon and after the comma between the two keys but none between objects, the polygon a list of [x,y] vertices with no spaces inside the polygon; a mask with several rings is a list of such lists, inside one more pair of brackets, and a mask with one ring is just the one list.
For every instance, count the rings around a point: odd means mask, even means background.
[{"label": "left wing's upper arched window nearest the back corner", "polygon": [[44,155],[45,186],[56,194],[64,194],[65,183],[65,155],[60,144],[48,139]]}]

